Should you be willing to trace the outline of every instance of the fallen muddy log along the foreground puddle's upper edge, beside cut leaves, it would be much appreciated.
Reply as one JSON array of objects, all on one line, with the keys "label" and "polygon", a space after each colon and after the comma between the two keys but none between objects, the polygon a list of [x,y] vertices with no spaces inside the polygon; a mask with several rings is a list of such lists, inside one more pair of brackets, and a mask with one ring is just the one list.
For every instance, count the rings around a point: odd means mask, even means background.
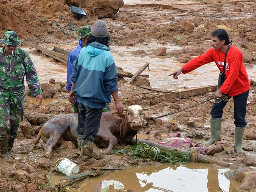
[{"label": "fallen muddy log along the foreground puddle's upper edge, beside cut leaves", "polygon": [[[155,143],[155,142],[150,142],[150,141],[142,140],[142,139],[137,139],[137,142],[136,142],[136,139],[132,139],[128,144],[137,145],[139,143],[145,143],[149,146],[158,147],[161,151],[170,151],[170,150],[176,149],[180,153],[187,152],[186,150],[182,150],[182,149],[178,149],[178,148],[172,148],[172,147],[169,147],[169,146],[161,145],[161,144],[158,144],[158,143]],[[199,151],[190,151],[189,161],[209,163],[209,164],[215,163],[215,164],[219,164],[221,166],[227,166],[227,167],[230,166],[229,162],[221,161],[221,160],[219,160],[219,159],[217,159],[213,156],[202,155],[202,154],[199,153]]]}]

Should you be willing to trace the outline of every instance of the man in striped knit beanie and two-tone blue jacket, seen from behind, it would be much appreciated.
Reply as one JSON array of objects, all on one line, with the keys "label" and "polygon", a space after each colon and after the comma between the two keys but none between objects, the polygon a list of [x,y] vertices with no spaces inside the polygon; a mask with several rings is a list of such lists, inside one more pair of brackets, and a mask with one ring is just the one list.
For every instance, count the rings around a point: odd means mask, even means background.
[{"label": "man in striped knit beanie and two-tone blue jacket, seen from behind", "polygon": [[77,134],[82,135],[80,149],[83,161],[93,157],[93,140],[100,127],[100,118],[111,95],[119,113],[123,105],[118,96],[117,70],[113,55],[108,51],[108,27],[98,20],[91,28],[87,46],[73,63],[72,87],[69,100],[78,102]]}]

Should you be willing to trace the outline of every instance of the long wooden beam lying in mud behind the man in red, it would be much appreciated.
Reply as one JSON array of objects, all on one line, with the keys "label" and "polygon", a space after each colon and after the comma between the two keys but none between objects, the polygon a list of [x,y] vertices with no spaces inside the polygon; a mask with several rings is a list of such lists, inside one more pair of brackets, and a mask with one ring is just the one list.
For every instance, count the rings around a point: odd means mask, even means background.
[{"label": "long wooden beam lying in mud behind the man in red", "polygon": [[[167,94],[162,94],[159,95],[162,97],[164,100],[169,100],[173,97],[175,98],[184,98],[185,96],[181,95],[184,94],[188,97],[190,96],[196,96],[200,94],[206,94],[209,92],[215,92],[217,90],[217,85],[211,85],[211,86],[206,86],[206,87],[195,87],[195,88],[190,88],[190,89],[184,89],[181,91],[177,91],[177,93],[167,93]],[[181,94],[178,94],[181,93]]]}]

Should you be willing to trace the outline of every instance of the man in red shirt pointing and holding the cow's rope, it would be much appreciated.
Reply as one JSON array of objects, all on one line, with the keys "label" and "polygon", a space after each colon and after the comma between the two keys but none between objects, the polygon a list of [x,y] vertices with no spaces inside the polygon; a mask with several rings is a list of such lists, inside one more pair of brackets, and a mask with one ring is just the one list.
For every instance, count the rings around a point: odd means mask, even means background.
[{"label": "man in red shirt pointing and holding the cow's rope", "polygon": [[[217,29],[211,33],[212,48],[204,54],[195,57],[186,65],[176,70],[169,76],[173,75],[174,79],[178,79],[178,75],[182,72],[186,74],[196,68],[214,61],[221,72],[223,72],[224,58],[226,50],[230,44],[228,33],[224,29]],[[243,55],[241,51],[230,46],[226,56],[225,81],[221,87],[215,92],[214,99],[220,99],[223,95],[228,99],[234,99],[234,124],[235,124],[235,151],[237,153],[245,153],[241,148],[243,132],[247,122],[245,121],[247,98],[249,95],[250,82],[243,65]],[[210,145],[215,141],[221,140],[221,117],[223,108],[227,102],[223,100],[214,103],[211,109],[211,138],[205,144]]]}]

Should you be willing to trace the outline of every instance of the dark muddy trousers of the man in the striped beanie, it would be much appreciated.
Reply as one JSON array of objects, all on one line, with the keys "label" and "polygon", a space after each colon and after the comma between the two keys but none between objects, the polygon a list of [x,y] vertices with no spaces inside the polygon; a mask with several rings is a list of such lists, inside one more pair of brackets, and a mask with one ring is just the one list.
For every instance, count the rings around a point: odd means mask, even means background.
[{"label": "dark muddy trousers of the man in the striped beanie", "polygon": [[77,134],[83,135],[83,140],[93,141],[100,128],[102,109],[93,109],[78,103]]}]

